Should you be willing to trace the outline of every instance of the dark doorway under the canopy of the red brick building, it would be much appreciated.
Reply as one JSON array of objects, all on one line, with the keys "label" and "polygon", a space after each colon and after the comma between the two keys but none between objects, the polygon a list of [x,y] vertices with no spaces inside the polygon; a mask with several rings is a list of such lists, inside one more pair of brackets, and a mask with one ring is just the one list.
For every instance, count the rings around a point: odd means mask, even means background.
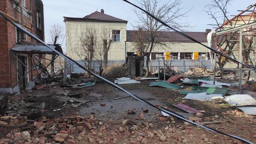
[{"label": "dark doorway under the canopy of the red brick building", "polygon": [[[17,61],[17,67],[18,67],[18,84],[19,84],[19,87],[20,89],[25,89],[25,77],[24,77],[24,74],[25,74],[25,71],[26,71],[26,67],[24,66],[24,63],[25,63],[25,57],[24,56],[21,56],[21,55],[18,55],[18,60]],[[23,64],[22,64],[22,63]],[[23,78],[22,78],[23,77]]]}]

